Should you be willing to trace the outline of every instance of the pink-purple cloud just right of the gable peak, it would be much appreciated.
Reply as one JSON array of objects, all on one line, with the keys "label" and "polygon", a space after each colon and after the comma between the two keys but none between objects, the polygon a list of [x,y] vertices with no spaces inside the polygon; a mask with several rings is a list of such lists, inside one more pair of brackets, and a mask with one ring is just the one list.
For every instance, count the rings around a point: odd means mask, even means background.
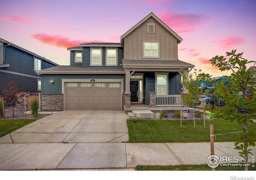
[{"label": "pink-purple cloud just right of the gable peak", "polygon": [[161,13],[158,16],[177,33],[198,31],[199,27],[209,22],[208,17],[199,14],[172,14],[167,12]]}]

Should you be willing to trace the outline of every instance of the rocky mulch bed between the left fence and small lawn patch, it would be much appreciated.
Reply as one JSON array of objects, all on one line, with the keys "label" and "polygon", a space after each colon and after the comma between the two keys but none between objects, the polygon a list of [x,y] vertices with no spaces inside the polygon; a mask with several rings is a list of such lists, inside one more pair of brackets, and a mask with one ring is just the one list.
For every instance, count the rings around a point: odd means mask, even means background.
[{"label": "rocky mulch bed between the left fence and small lawn patch", "polygon": [[[26,108],[26,111],[29,111],[30,109]],[[31,114],[27,114],[25,116],[25,108],[22,107],[14,107],[14,117],[12,114],[12,106],[7,106],[4,108],[4,118],[2,119],[40,119],[46,116],[50,116],[51,114],[39,114],[38,117],[33,117]]]}]

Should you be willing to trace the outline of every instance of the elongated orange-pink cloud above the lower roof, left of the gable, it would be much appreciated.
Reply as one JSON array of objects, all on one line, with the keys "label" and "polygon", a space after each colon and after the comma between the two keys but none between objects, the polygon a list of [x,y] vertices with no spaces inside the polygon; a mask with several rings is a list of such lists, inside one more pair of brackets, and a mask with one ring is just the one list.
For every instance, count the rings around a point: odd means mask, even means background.
[{"label": "elongated orange-pink cloud above the lower roof, left of the gable", "polygon": [[57,46],[61,48],[70,48],[79,46],[79,44],[90,43],[90,42],[98,42],[98,41],[70,41],[70,38],[63,38],[61,36],[52,36],[48,34],[32,34],[31,36],[34,39],[39,40],[44,44],[50,44],[52,46]]}]

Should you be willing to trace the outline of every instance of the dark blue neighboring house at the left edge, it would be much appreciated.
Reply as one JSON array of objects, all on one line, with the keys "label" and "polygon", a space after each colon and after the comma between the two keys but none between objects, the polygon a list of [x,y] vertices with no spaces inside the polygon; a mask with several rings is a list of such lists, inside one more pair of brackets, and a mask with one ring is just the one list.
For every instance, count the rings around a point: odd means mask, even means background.
[{"label": "dark blue neighboring house at the left edge", "polygon": [[0,89],[13,80],[17,88],[26,92],[41,91],[41,76],[37,70],[58,64],[0,38]]}]

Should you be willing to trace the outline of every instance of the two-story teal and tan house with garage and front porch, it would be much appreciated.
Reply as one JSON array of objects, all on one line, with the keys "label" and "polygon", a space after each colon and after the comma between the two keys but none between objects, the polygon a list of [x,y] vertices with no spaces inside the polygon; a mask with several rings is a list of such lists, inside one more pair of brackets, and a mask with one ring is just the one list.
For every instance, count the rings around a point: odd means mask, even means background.
[{"label": "two-story teal and tan house with garage and front porch", "polygon": [[42,109],[128,110],[133,103],[180,107],[182,70],[188,76],[194,67],[178,60],[181,41],[150,13],[120,43],[68,48],[70,66],[37,71],[42,76]]}]

